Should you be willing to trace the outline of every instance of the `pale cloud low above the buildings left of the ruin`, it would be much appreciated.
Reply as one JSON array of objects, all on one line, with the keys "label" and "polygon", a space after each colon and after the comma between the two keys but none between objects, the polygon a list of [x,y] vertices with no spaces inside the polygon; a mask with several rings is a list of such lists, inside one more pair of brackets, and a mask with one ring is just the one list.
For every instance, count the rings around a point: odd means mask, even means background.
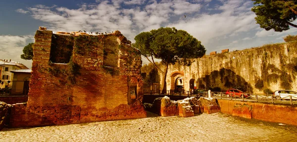
[{"label": "pale cloud low above the buildings left of the ruin", "polygon": [[23,60],[20,56],[24,46],[33,42],[33,39],[33,36],[0,36],[0,59],[11,59],[31,68],[32,60]]}]

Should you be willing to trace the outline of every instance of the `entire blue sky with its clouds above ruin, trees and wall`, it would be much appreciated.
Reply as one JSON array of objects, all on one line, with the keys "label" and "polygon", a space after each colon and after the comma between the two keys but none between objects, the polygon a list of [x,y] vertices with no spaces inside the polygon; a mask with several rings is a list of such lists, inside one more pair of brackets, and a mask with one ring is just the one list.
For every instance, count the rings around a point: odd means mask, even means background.
[{"label": "entire blue sky with its clouds above ruin, trees and wall", "polygon": [[[297,28],[279,33],[255,23],[251,0],[0,0],[0,59],[20,59],[39,26],[51,31],[141,32],[175,27],[196,37],[206,54],[284,42]],[[186,18],[184,17],[186,15]],[[294,22],[295,24],[296,21]]]}]

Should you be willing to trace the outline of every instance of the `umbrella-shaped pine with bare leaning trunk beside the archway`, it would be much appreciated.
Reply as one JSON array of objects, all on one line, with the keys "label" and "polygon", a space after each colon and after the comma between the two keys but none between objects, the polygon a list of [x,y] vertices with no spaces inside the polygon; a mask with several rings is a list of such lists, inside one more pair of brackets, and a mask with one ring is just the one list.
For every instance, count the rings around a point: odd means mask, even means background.
[{"label": "umbrella-shaped pine with bare leaning trunk beside the archway", "polygon": [[[205,48],[195,37],[186,31],[175,28],[159,28],[149,32],[143,32],[135,36],[134,47],[141,50],[145,56],[159,71],[162,72],[162,93],[166,92],[166,75],[169,65],[176,63],[190,66],[191,59],[202,57]],[[151,61],[148,57],[151,57]],[[165,69],[162,71],[154,62],[154,58],[161,59]]]}]

